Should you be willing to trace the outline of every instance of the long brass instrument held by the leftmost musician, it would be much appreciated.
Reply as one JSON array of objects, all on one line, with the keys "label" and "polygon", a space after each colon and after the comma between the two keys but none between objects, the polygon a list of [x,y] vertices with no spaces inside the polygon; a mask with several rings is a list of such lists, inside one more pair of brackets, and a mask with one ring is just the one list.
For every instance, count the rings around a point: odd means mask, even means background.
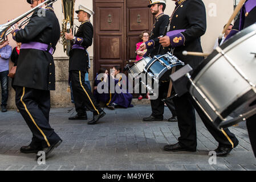
[{"label": "long brass instrument held by the leftmost musician", "polygon": [[[22,14],[21,16],[18,16],[17,18],[11,20],[10,22],[7,22],[5,24],[2,24],[0,26],[0,43],[2,43],[3,41],[5,41],[5,38],[7,35],[9,35],[11,33],[11,31],[13,31],[13,26],[14,24],[18,23],[20,20],[22,20],[23,18],[26,17],[25,20],[23,20],[21,23],[18,24],[18,27],[21,28],[24,24],[26,24],[27,22],[29,22],[31,16],[27,17],[27,15],[31,14],[32,12],[34,12],[36,9],[38,9],[38,7],[43,6],[45,3],[48,3],[47,6],[52,5],[52,3],[56,2],[58,0],[47,0],[44,1],[43,3],[40,3],[40,5],[34,7],[33,9],[27,11],[25,14]],[[44,6],[44,7],[47,7]]]}]

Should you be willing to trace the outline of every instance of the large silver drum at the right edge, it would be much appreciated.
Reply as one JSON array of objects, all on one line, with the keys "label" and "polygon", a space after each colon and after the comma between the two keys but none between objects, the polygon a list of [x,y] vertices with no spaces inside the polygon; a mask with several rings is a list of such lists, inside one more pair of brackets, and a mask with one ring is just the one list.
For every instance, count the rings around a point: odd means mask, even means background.
[{"label": "large silver drum at the right edge", "polygon": [[[217,48],[189,78],[190,94],[218,129],[256,113],[255,43],[253,24]],[[229,115],[234,119],[227,120]]]}]

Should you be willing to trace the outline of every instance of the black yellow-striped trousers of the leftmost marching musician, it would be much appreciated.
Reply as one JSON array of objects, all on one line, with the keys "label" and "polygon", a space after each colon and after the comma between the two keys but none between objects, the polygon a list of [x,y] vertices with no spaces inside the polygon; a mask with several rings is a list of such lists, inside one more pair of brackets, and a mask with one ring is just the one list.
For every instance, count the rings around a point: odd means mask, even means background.
[{"label": "black yellow-striped trousers of the leftmost marching musician", "polygon": [[49,123],[50,91],[15,86],[16,105],[32,132],[31,146],[50,147],[60,137]]}]

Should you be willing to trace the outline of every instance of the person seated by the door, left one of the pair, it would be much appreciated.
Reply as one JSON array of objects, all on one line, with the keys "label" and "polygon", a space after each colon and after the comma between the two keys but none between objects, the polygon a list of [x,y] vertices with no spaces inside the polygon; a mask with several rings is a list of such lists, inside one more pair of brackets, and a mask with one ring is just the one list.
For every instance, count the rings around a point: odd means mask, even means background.
[{"label": "person seated by the door, left one of the pair", "polygon": [[[101,78],[101,80],[98,80],[98,76],[100,73],[104,74],[104,78]],[[94,97],[96,98],[96,101],[98,103],[103,102],[103,104],[107,104],[110,100],[109,93],[99,93],[97,91],[97,86],[99,85],[100,82],[107,82],[108,81],[108,70],[105,68],[100,68],[99,73],[97,73],[97,76],[94,80]],[[104,90],[104,84],[101,86],[101,89]]]}]

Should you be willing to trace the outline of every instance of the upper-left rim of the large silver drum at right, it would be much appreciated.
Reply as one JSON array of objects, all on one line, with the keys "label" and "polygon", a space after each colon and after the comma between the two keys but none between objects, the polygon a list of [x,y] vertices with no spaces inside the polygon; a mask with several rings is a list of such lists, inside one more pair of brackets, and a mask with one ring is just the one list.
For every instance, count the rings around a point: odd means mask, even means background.
[{"label": "upper-left rim of the large silver drum at right", "polygon": [[[236,42],[238,39],[241,39],[243,36],[249,34],[250,32],[253,32],[256,30],[256,23],[252,24],[251,26],[245,28],[244,30],[240,31],[239,34],[235,34],[232,38],[227,40],[224,44],[222,44],[220,47],[221,49],[225,49],[229,47],[231,44]],[[197,77],[197,75],[202,71],[202,69],[214,59],[217,55],[221,56],[221,53],[218,51],[214,50],[205,60],[202,60],[202,62],[198,65],[198,67],[193,71],[191,77],[194,79]]]}]

